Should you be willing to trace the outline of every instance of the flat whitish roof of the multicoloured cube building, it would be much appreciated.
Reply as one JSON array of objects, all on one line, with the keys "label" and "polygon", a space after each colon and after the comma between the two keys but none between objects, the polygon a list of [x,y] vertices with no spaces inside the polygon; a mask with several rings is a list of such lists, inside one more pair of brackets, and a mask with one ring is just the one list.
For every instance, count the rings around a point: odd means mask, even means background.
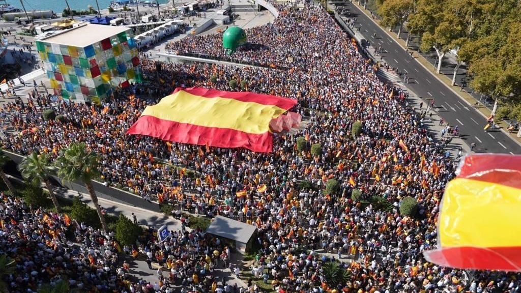
[{"label": "flat whitish roof of the multicoloured cube building", "polygon": [[88,45],[128,30],[130,29],[125,27],[87,24],[61,33],[53,34],[47,38],[40,39],[39,41],[84,48]]}]

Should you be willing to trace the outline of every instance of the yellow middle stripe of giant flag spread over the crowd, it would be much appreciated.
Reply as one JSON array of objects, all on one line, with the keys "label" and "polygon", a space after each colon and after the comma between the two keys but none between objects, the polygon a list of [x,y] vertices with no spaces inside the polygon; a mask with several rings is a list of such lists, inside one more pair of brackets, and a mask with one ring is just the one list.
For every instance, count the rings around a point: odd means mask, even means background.
[{"label": "yellow middle stripe of giant flag spread over the crowd", "polygon": [[[215,111],[218,109],[218,111]],[[185,91],[164,97],[148,106],[142,115],[204,127],[217,127],[261,134],[269,131],[269,121],[286,110],[274,105],[241,102],[224,97],[202,97]]]}]

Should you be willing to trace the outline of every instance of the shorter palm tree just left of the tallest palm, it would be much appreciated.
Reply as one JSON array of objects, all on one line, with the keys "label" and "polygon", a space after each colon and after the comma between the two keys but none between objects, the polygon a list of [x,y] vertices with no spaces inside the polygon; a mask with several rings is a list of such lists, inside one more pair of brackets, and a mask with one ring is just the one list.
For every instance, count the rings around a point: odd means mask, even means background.
[{"label": "shorter palm tree just left of the tallest palm", "polygon": [[40,186],[40,182],[44,182],[45,188],[49,191],[49,196],[56,207],[56,212],[61,212],[60,204],[54,194],[54,188],[51,184],[51,175],[54,173],[55,166],[51,163],[51,156],[48,154],[37,154],[36,152],[23,158],[18,165],[18,170],[22,177],[26,180],[32,180],[33,184]]}]

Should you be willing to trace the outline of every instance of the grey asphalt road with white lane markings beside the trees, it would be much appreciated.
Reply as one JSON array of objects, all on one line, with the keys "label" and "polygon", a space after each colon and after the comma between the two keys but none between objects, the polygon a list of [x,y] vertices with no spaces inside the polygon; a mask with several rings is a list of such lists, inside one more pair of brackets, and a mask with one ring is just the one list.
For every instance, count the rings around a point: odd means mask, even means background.
[{"label": "grey asphalt road with white lane markings beside the trees", "polygon": [[[483,130],[487,120],[466,101],[462,100],[444,83],[435,78],[427,69],[405,52],[383,31],[370,17],[352,3],[347,2],[343,8],[349,8],[356,17],[355,27],[371,46],[381,47],[384,62],[389,66],[398,67],[402,74],[411,78],[407,87],[418,94],[427,104],[435,101],[434,109],[451,126],[458,126],[462,139],[467,143],[476,143],[477,152],[521,154],[521,145],[517,144],[500,129]],[[373,35],[376,33],[376,38]],[[424,108],[425,108],[424,105]]]}]

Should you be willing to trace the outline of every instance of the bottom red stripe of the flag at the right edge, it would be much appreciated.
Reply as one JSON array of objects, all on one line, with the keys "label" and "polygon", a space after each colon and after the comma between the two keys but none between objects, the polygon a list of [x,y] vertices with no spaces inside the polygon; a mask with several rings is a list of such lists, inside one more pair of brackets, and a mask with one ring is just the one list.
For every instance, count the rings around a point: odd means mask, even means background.
[{"label": "bottom red stripe of the flag at the right edge", "polygon": [[441,266],[521,271],[521,247],[454,247],[424,251],[424,255]]}]

